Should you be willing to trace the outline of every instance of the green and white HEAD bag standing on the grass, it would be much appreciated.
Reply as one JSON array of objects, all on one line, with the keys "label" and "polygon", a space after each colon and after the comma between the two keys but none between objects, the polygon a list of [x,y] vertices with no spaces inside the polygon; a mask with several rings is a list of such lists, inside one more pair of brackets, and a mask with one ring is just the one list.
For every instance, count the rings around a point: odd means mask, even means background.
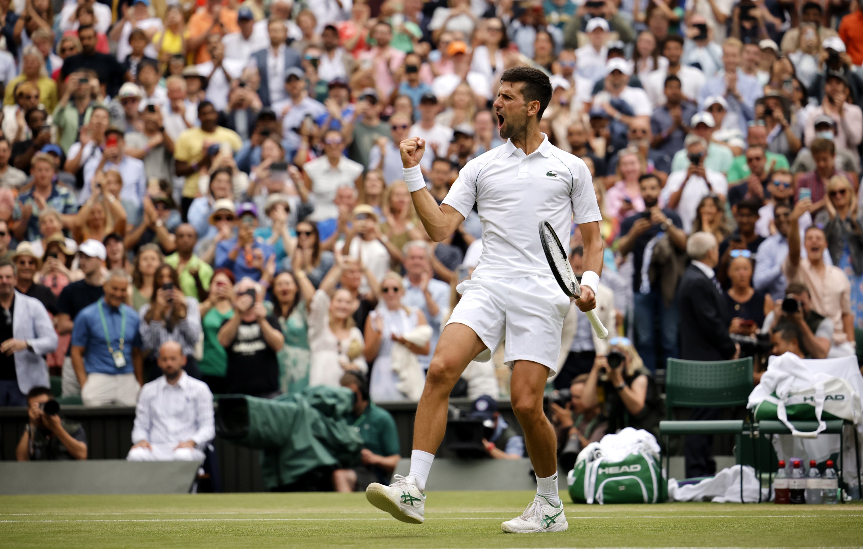
[{"label": "green and white HEAD bag standing on the grass", "polygon": [[658,459],[648,453],[632,452],[622,461],[599,457],[581,459],[567,475],[570,497],[575,503],[656,503],[665,482]]}]

